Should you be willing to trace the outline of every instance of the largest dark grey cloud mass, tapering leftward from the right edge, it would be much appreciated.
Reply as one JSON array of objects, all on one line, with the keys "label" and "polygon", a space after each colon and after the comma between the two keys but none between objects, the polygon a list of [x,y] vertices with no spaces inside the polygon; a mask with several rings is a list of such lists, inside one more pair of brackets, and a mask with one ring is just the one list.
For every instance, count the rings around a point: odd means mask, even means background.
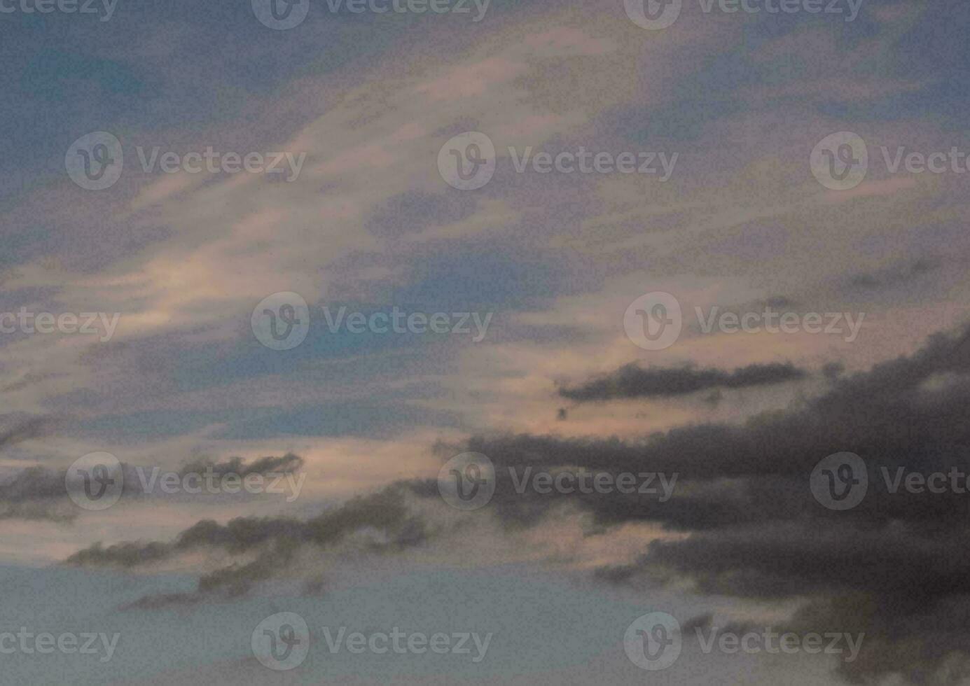
[{"label": "largest dark grey cloud mass, tapering leftward from the right edge", "polygon": [[[495,464],[486,510],[510,529],[537,525],[567,504],[592,516],[590,536],[636,521],[684,534],[654,541],[631,564],[598,570],[604,581],[687,580],[702,594],[798,602],[787,620],[794,629],[865,633],[858,659],[838,665],[844,678],[950,684],[970,665],[970,494],[871,487],[856,508],[833,512],[814,499],[809,477],[835,452],[860,455],[870,483],[880,482],[883,467],[970,473],[967,446],[970,327],[869,371],[832,374],[824,394],[740,424],[683,426],[639,441],[477,436],[460,448]],[[437,450],[454,454],[443,444]],[[615,491],[519,493],[508,467],[679,479],[666,502]],[[246,555],[199,580],[199,598],[232,597],[284,574],[305,546],[327,549],[365,531],[380,534],[375,552],[422,545],[431,534],[410,496],[436,498],[436,483],[394,483],[308,520],[202,521],[171,543],[93,546],[68,562],[134,567],[188,551]]]}]

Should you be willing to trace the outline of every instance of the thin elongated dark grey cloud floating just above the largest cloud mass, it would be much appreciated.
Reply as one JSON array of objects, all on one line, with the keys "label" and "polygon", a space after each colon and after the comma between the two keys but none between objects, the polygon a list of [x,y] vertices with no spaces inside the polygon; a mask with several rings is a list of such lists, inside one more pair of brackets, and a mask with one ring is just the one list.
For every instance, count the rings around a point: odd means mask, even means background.
[{"label": "thin elongated dark grey cloud floating just above the largest cloud mass", "polygon": [[743,389],[780,384],[801,379],[803,369],[791,362],[750,364],[728,372],[723,369],[683,367],[647,367],[635,362],[584,384],[564,387],[559,394],[576,402],[612,400],[615,398],[667,397],[685,395],[706,389]]}]

